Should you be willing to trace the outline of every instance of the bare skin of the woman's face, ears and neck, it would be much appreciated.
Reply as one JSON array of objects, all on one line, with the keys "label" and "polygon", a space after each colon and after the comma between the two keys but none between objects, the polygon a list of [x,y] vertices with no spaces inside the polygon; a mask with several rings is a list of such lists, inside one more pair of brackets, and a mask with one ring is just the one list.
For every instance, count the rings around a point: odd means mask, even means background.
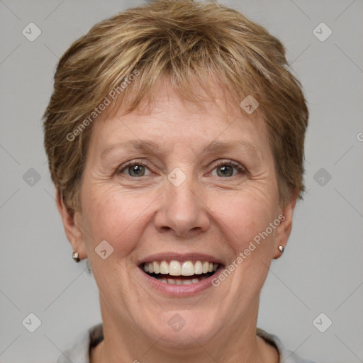
[{"label": "bare skin of the woman's face, ears and neck", "polygon": [[[279,362],[277,350],[255,331],[259,294],[289,238],[296,199],[279,205],[264,123],[247,118],[213,82],[211,89],[216,99],[201,109],[164,80],[150,107],[95,122],[79,210],[68,213],[57,196],[67,238],[81,259],[88,257],[99,287],[104,341],[91,350],[92,363]],[[103,155],[128,140],[151,140],[159,148],[119,146]],[[205,151],[216,140],[244,140],[256,152]],[[143,176],[123,168],[132,160],[148,160]],[[229,160],[245,172],[230,167],[220,176],[216,162],[228,166]],[[167,179],[176,167],[186,175],[180,186]],[[159,252],[206,253],[228,266],[281,214],[284,221],[218,287],[176,298],[141,278],[138,261]],[[94,251],[102,240],[113,247],[107,259]],[[186,322],[178,332],[167,324],[175,313]]]}]

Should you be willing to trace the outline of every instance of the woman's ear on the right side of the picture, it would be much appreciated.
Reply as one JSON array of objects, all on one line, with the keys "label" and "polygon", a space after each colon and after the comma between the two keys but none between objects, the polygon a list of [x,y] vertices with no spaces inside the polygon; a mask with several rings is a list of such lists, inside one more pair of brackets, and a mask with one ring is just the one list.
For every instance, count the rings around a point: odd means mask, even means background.
[{"label": "woman's ear on the right side of the picture", "polygon": [[[281,257],[281,252],[279,251],[279,246],[286,247],[287,240],[292,229],[292,218],[294,215],[294,208],[296,206],[297,193],[294,192],[291,196],[291,201],[281,209],[279,215],[279,220],[281,223],[276,228],[275,234],[275,246],[274,246],[274,259]],[[280,217],[281,216],[281,217]]]}]

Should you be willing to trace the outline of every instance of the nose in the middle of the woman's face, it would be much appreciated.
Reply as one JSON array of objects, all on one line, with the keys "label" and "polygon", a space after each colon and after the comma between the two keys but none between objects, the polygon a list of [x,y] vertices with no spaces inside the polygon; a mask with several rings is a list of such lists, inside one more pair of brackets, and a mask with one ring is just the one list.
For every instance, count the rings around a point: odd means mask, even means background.
[{"label": "nose in the middle of the woman's face", "polygon": [[167,181],[160,198],[160,208],[155,216],[158,232],[192,238],[210,227],[206,201],[203,201],[200,188],[189,178],[180,186]]}]

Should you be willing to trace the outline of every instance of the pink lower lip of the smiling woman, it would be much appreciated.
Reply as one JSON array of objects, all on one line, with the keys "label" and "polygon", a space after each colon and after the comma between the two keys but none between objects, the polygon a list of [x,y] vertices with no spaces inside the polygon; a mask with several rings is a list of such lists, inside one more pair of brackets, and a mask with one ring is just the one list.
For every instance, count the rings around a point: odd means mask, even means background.
[{"label": "pink lower lip of the smiling woman", "polygon": [[210,287],[214,287],[212,285],[213,279],[218,278],[218,275],[223,270],[221,267],[219,267],[215,274],[213,274],[212,276],[207,277],[206,279],[203,279],[199,282],[196,282],[194,284],[173,285],[173,284],[168,284],[168,283],[159,281],[158,279],[155,279],[155,277],[149,276],[140,267],[139,267],[139,269],[140,269],[140,273],[143,275],[143,278],[147,281],[147,284],[150,284],[152,286],[152,288],[154,288],[158,291],[161,291],[162,293],[166,294],[167,296],[172,296],[172,297],[192,296],[192,295],[198,294],[199,292],[206,290]]}]

